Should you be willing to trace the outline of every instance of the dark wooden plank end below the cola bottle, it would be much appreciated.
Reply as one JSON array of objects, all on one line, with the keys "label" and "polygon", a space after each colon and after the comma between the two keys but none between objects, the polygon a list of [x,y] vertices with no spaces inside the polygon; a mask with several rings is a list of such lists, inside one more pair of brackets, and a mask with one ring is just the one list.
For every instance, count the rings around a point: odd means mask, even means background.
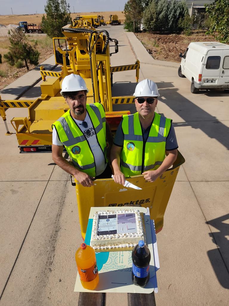
[{"label": "dark wooden plank end below the cola bottle", "polygon": [[156,306],[154,291],[152,293],[127,293],[128,306]]}]

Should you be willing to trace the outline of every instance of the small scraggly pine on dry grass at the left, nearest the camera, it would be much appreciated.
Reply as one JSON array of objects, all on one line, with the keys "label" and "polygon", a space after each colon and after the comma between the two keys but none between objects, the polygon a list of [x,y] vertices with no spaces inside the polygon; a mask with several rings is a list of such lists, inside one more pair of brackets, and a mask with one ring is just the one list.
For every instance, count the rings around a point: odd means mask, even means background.
[{"label": "small scraggly pine on dry grass at the left, nearest the camera", "polygon": [[16,32],[15,30],[8,31],[9,35],[9,52],[4,54],[3,57],[9,65],[13,66],[18,61],[24,61],[27,70],[29,71],[28,61],[30,64],[38,65],[38,58],[40,53],[35,47],[32,47],[21,31]]}]

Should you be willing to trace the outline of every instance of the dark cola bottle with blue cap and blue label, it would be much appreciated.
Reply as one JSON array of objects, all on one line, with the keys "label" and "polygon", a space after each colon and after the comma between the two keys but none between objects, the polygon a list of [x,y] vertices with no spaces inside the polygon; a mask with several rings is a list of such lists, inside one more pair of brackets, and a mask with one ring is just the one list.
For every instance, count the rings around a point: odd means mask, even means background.
[{"label": "dark cola bottle with blue cap and blue label", "polygon": [[150,250],[143,240],[132,251],[132,281],[134,285],[145,287],[150,279]]}]

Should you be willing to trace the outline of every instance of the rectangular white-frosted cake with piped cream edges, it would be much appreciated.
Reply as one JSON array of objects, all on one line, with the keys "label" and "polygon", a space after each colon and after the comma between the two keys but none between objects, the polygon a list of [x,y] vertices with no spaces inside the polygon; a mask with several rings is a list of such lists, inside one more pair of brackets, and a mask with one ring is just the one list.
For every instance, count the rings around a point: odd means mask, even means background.
[{"label": "rectangular white-frosted cake with piped cream edges", "polygon": [[[108,234],[108,235],[99,234],[99,226],[101,222],[100,216],[107,216],[108,218],[108,215],[109,216],[116,215],[116,217],[113,216],[113,218],[114,218],[114,222],[116,222],[116,230],[114,231],[117,232],[118,231],[118,218],[124,218],[123,216],[124,214],[125,214],[125,217],[126,217],[126,214],[135,215],[136,229],[133,230],[133,232],[115,233],[115,234]],[[109,218],[107,220],[110,221]],[[121,225],[125,224],[125,222],[120,222],[120,223]],[[135,226],[135,222],[134,222],[134,226]],[[128,229],[127,227],[127,231],[131,231],[131,230],[132,229]],[[123,231],[122,227],[121,227],[121,231]],[[139,210],[120,209],[120,210],[96,211],[94,213],[91,242],[90,242],[90,246],[92,248],[94,249],[112,249],[112,248],[134,247],[136,244],[138,244],[139,240],[144,240],[146,242],[143,224],[142,224],[142,218],[141,218]]]}]

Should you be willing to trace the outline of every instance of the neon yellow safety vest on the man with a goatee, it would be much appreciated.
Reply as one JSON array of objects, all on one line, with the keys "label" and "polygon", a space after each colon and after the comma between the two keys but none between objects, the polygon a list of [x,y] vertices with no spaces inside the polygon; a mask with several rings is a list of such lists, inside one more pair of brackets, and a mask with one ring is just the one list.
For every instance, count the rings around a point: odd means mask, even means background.
[{"label": "neon yellow safety vest on the man with a goatee", "polygon": [[[94,103],[86,104],[86,110],[96,132],[98,144],[104,153],[104,158],[107,162],[106,121],[104,108],[102,104]],[[96,165],[94,155],[88,140],[72,118],[70,110],[54,122],[53,126],[55,126],[58,137],[71,157],[74,166],[91,177],[95,177]]]}]

